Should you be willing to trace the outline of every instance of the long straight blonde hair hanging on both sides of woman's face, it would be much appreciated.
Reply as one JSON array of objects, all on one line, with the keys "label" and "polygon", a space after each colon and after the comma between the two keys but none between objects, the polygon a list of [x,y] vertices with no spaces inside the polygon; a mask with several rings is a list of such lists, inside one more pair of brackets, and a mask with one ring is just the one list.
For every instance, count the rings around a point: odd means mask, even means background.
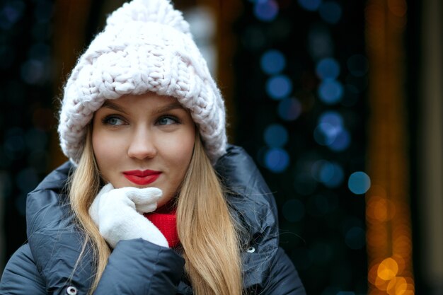
[{"label": "long straight blonde hair hanging on both sides of woman's face", "polygon": [[[69,187],[72,211],[92,245],[96,274],[91,292],[105,270],[110,248],[88,209],[100,188],[100,173],[88,127],[83,154]],[[196,132],[194,151],[178,193],[177,230],[185,258],[185,272],[197,295],[241,295],[241,258],[238,231],[222,185]]]}]

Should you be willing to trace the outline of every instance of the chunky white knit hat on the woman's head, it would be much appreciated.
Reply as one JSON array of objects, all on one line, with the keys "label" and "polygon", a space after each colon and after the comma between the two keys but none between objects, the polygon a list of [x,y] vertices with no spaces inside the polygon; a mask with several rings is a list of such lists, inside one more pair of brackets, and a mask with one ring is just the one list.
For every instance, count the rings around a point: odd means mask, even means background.
[{"label": "chunky white knit hat on the woman's head", "polygon": [[190,110],[212,163],[225,153],[224,101],[189,24],[168,0],[133,0],[108,17],[67,80],[58,127],[64,154],[79,162],[86,125],[105,100],[149,91]]}]

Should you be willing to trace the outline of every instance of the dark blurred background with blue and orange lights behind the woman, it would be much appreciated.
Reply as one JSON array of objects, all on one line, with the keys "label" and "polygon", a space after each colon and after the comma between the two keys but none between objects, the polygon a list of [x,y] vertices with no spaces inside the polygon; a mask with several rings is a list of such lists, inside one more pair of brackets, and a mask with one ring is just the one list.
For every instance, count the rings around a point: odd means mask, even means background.
[{"label": "dark blurred background with blue and orange lights behind the woman", "polygon": [[[57,108],[122,0],[0,1],[0,273],[67,159]],[[443,294],[440,0],[176,0],[308,294]]]}]

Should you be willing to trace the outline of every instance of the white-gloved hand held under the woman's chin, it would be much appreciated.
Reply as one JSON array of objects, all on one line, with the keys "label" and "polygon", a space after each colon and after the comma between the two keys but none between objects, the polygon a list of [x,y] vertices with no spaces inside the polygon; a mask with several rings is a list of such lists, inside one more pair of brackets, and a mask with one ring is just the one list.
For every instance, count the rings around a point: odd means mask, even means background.
[{"label": "white-gloved hand held under the woman's chin", "polygon": [[143,238],[168,247],[163,233],[142,214],[153,212],[162,192],[156,187],[122,187],[105,185],[89,208],[89,214],[105,241],[115,248],[118,241]]}]

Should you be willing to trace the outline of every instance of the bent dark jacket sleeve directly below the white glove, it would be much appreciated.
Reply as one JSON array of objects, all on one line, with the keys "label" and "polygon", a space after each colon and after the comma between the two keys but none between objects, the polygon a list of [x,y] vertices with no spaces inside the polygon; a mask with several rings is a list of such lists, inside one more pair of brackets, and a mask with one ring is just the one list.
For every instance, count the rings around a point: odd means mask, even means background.
[{"label": "bent dark jacket sleeve directly below the white glove", "polygon": [[141,238],[120,241],[94,294],[176,294],[184,259]]}]

